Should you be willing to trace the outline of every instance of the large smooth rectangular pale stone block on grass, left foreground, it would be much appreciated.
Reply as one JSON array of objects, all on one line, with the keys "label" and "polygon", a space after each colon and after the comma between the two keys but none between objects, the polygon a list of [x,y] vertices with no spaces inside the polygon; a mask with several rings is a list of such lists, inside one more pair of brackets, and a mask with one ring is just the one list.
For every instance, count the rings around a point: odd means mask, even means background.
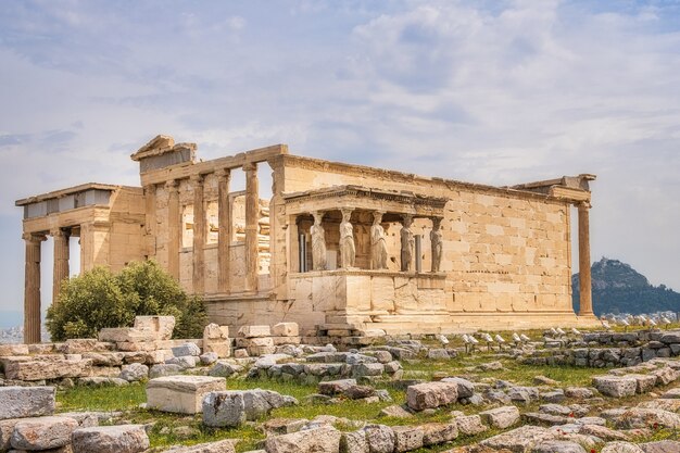
[{"label": "large smooth rectangular pale stone block on grass, left foreground", "polygon": [[179,414],[198,414],[203,397],[227,389],[225,378],[209,376],[165,376],[147,383],[147,407]]}]

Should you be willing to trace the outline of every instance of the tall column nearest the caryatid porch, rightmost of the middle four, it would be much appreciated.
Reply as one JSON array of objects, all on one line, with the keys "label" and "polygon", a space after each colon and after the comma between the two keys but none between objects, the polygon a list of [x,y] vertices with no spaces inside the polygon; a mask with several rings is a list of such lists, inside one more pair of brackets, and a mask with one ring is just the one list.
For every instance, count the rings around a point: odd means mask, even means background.
[{"label": "tall column nearest the caryatid porch, rightmost of the middle four", "polygon": [[260,189],[257,164],[247,163],[245,172],[245,290],[257,291],[257,235],[260,232]]}]

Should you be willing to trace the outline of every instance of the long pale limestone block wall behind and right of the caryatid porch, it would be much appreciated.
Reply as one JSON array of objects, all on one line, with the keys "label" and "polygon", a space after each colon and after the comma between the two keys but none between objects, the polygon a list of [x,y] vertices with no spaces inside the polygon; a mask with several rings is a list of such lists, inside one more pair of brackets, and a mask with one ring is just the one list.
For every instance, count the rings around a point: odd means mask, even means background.
[{"label": "long pale limestone block wall behind and right of the caryatid porch", "polygon": [[[285,162],[286,192],[361,185],[450,200],[442,222],[441,270],[446,274],[444,298],[452,317],[439,320],[464,325],[468,319],[479,323],[478,318],[469,317],[474,315],[508,314],[516,319],[515,315],[520,315],[519,318],[531,316],[536,323],[567,318],[576,322],[570,297],[568,202],[516,190],[413,177],[298,156],[280,159]],[[399,250],[400,228],[399,224],[388,228],[391,253]],[[430,228],[429,219],[418,219],[412,227],[414,235],[423,235],[424,272],[430,268]],[[333,243],[335,231],[327,229],[326,234],[327,242]],[[362,230],[357,234],[361,235]],[[399,262],[398,256],[391,257],[395,260],[388,260],[392,266],[390,269],[395,268],[395,261]],[[411,288],[410,291],[415,290]],[[315,299],[313,292],[307,298],[302,297],[299,287],[289,288],[289,293],[298,301]],[[372,300],[382,298],[389,301],[392,293],[392,290],[374,289]],[[543,318],[536,315],[543,315]],[[375,322],[376,317],[364,320]],[[387,317],[380,320],[391,322]]]}]

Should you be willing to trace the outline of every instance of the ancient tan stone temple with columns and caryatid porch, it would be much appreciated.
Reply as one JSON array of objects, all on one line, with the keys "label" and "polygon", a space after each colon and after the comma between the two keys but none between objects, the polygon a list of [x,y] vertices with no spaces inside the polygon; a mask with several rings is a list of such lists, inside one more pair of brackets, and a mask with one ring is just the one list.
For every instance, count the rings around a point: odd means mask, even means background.
[{"label": "ancient tan stone temple with columns and caryatid porch", "polygon": [[[78,237],[81,270],[154,259],[203,295],[221,325],[445,334],[595,322],[592,175],[492,187],[291,155],[285,144],[205,162],[196,149],[159,136],[131,155],[141,187],[87,184],[16,202],[27,342],[39,341],[48,236],[54,294],[70,275],[68,238]],[[237,176],[244,190],[230,188]],[[583,270],[578,314],[571,211]]]}]

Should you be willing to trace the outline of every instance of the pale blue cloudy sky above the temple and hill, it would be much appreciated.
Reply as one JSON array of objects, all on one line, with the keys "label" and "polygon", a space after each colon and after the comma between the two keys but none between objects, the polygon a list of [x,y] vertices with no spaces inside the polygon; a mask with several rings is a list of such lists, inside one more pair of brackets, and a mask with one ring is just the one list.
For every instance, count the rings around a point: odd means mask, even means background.
[{"label": "pale blue cloudy sky above the temple and hill", "polygon": [[680,289],[678,0],[3,0],[0,100],[0,311],[23,304],[14,200],[138,185],[156,134],[491,185],[594,173],[593,260]]}]

